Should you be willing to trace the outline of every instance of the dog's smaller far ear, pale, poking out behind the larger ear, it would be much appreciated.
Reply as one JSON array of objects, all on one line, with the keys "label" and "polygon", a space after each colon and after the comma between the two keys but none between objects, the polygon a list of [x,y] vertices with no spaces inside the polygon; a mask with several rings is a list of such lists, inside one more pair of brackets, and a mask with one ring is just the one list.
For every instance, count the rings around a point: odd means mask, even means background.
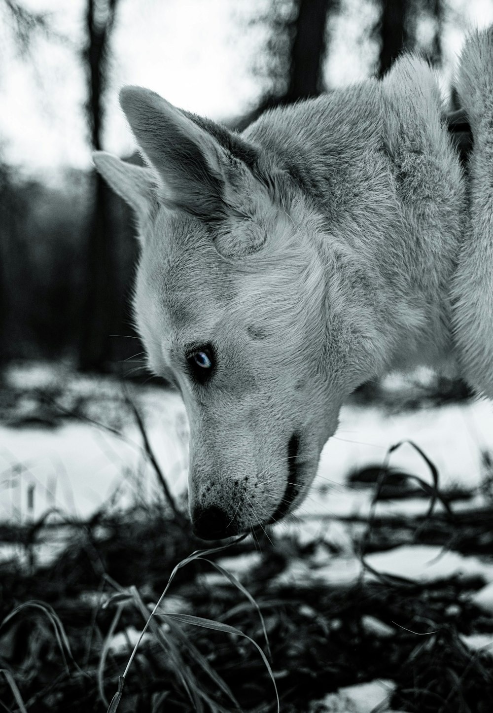
[{"label": "dog's smaller far ear, pale, poking out behind the larger ear", "polygon": [[142,225],[156,194],[156,179],[150,168],[125,163],[106,151],[94,151],[93,161],[111,188],[135,210]]}]

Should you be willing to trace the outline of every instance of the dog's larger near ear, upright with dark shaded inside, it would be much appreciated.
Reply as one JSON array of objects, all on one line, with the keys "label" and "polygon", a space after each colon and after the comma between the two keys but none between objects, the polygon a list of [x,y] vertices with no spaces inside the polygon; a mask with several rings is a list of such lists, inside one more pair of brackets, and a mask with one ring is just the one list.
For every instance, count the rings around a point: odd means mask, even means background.
[{"label": "dog's larger near ear, upright with dark shaded inside", "polygon": [[198,217],[217,215],[227,173],[224,148],[149,89],[124,87],[120,105],[145,158],[162,180],[161,198]]}]

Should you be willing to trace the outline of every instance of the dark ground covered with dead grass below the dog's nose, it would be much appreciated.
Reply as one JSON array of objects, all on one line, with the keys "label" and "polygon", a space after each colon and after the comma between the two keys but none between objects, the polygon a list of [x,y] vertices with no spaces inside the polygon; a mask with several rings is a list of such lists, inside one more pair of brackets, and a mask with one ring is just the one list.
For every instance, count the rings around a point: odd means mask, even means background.
[{"label": "dark ground covered with dead grass below the dog's nose", "polygon": [[[403,543],[491,562],[493,506],[455,513],[427,463],[432,486],[405,478],[429,499],[425,517],[351,518],[363,562]],[[375,503],[398,483],[391,475],[373,474]],[[461,638],[493,632],[493,616],[470,599],[481,577],[418,584],[375,573],[345,585],[309,576],[288,585],[278,575],[290,563],[311,563],[321,547],[337,557],[338,545],[269,533],[227,545],[233,558],[261,555],[238,582],[217,561],[224,547],[199,550],[178,509],[168,498],[85,522],[52,513],[0,528],[0,540],[26,554],[0,565],[0,709],[324,713],[316,702],[328,692],[380,677],[396,683],[396,710],[493,709],[492,652]],[[53,528],[66,547],[41,566],[36,545]],[[212,571],[220,578],[209,580]]]}]

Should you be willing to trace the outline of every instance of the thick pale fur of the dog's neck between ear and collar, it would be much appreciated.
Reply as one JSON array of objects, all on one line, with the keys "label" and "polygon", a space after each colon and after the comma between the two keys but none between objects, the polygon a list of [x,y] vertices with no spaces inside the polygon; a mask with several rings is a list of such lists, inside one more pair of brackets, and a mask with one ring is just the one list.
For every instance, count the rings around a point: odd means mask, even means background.
[{"label": "thick pale fur of the dog's neck between ear and collar", "polygon": [[456,370],[449,288],[465,179],[423,69],[415,96],[368,81],[266,113],[245,132],[309,195],[326,252],[343,255],[348,301],[373,312],[375,373],[365,378],[419,364]]}]

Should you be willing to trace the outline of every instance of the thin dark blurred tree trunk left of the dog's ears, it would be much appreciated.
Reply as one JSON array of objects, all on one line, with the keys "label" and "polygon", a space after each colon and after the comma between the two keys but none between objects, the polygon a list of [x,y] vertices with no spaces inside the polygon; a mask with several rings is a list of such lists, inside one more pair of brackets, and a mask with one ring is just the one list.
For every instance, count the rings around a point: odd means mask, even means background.
[{"label": "thin dark blurred tree trunk left of the dog's ears", "polygon": [[[115,24],[118,0],[86,0],[87,45],[83,61],[87,68],[88,101],[85,109],[94,150],[101,148],[103,93],[108,76],[108,45]],[[110,220],[110,191],[93,172],[94,207],[86,246],[79,367],[104,371],[111,359],[111,339],[118,310],[115,283],[117,266],[114,232]]]}]

